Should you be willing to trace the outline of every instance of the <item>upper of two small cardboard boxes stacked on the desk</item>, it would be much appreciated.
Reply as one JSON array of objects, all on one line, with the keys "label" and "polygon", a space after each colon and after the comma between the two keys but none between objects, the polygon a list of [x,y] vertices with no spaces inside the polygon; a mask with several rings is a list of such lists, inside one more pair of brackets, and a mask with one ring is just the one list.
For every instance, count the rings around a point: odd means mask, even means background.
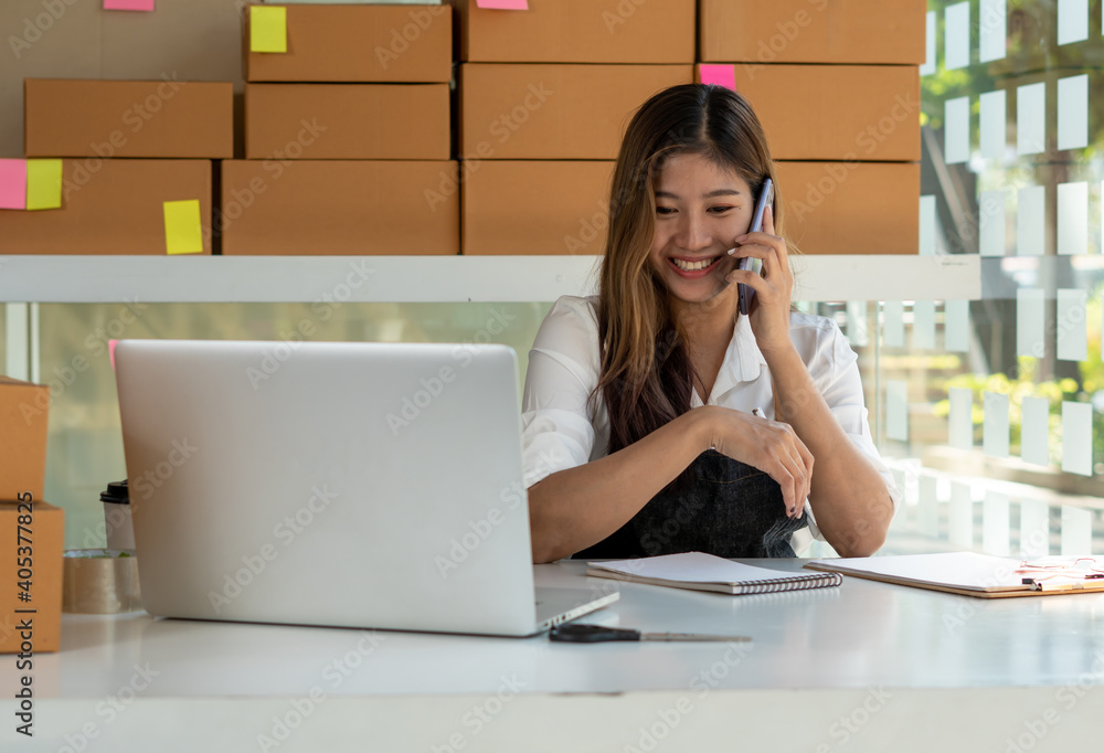
[{"label": "upper of two small cardboard boxes stacked on the desk", "polygon": [[0,376],[0,501],[42,499],[49,413],[49,386]]}]

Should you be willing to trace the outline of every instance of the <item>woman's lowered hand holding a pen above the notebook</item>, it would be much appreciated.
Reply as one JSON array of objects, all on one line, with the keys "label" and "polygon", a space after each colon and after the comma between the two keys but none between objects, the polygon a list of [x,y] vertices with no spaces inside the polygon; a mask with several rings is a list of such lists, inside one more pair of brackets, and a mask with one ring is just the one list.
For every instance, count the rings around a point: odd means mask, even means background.
[{"label": "woman's lowered hand holding a pen above the notebook", "polygon": [[703,405],[709,445],[758,468],[782,487],[786,516],[800,518],[813,485],[813,453],[793,426],[723,405]]}]

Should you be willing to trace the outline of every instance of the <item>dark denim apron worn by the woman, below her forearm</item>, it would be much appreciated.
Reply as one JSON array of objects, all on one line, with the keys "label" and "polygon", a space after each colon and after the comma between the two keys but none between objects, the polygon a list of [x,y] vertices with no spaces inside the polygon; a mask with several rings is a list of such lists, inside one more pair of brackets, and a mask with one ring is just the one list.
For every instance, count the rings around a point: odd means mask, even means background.
[{"label": "dark denim apron worn by the woman, below her forearm", "polygon": [[609,537],[573,559],[628,559],[707,552],[718,556],[795,556],[794,531],[809,523],[787,518],[782,487],[758,468],[707,449],[691,465],[689,489],[671,485]]}]

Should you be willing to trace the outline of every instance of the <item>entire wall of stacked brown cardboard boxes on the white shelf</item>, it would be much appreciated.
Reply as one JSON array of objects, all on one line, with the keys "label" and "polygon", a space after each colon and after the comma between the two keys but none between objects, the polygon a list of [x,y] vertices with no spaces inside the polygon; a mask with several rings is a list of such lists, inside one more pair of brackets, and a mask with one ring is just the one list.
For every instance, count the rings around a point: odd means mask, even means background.
[{"label": "entire wall of stacked brown cardboard boxes on the white shelf", "polygon": [[696,42],[699,79],[763,120],[799,248],[916,252],[924,0],[248,11],[244,160],[229,83],[28,79],[0,252],[211,253],[213,231],[227,254],[602,253],[625,127],[694,79]]}]

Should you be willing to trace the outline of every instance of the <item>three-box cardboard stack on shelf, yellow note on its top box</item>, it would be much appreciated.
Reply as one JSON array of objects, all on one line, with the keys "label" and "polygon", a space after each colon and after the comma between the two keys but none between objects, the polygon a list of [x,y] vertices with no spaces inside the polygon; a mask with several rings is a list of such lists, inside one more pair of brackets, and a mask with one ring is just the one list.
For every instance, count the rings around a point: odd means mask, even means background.
[{"label": "three-box cardboard stack on shelf, yellow note on its top box", "polygon": [[[222,253],[458,253],[452,9],[259,10],[277,11],[284,38],[258,43],[269,19],[251,8],[245,159],[222,165]],[[261,51],[273,46],[284,51]]]}]

